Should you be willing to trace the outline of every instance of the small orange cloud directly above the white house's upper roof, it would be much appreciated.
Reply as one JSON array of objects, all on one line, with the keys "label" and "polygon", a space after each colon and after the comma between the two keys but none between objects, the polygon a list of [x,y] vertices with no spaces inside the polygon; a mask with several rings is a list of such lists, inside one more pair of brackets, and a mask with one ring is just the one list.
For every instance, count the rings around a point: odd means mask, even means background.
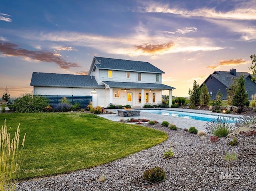
[{"label": "small orange cloud directly above the white house's upper roof", "polygon": [[158,51],[165,51],[174,46],[174,42],[170,41],[165,44],[144,44],[136,46],[136,50],[142,50],[144,53],[156,53]]}]

